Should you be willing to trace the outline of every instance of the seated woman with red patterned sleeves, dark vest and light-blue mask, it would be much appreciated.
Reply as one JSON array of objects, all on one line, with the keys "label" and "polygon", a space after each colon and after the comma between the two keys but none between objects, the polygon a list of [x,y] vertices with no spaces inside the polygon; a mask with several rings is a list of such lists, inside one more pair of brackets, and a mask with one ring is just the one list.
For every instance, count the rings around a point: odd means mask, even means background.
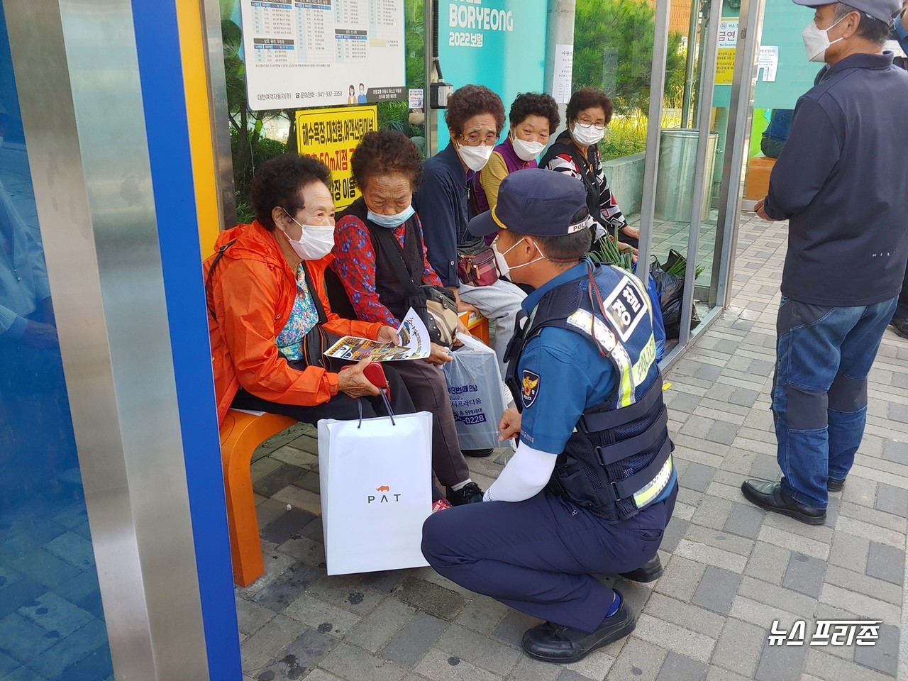
[{"label": "seated woman with red patterned sleeves, dark vest and light-blue mask", "polygon": [[[416,145],[393,130],[367,133],[350,160],[362,196],[341,214],[334,232],[333,270],[361,321],[393,327],[407,313],[395,265],[414,283],[441,285],[426,257],[422,225],[413,211],[422,161]],[[396,261],[396,262],[395,262]],[[441,365],[452,358],[432,343],[426,360],[395,362],[419,409],[432,413],[432,468],[454,506],[482,500],[460,451],[454,412]]]}]

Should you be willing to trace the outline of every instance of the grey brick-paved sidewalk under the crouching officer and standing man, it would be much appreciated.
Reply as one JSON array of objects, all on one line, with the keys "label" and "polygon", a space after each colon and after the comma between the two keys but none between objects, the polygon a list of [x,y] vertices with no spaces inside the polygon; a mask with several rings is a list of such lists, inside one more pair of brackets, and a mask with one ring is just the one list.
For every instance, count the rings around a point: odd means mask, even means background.
[{"label": "grey brick-paved sidewalk under the crouching officer and standing man", "polygon": [[[538,622],[430,568],[326,577],[313,429],[252,465],[267,574],[237,589],[247,679],[311,681],[875,681],[896,676],[908,516],[908,341],[887,331],[864,444],[829,518],[808,527],[745,503],[777,479],[769,386],[785,225],[741,228],[734,304],[666,374],[680,474],[655,585],[620,585],[637,630],[575,665],[518,647]],[[471,459],[483,488],[504,463]],[[290,504],[291,511],[286,507]],[[767,646],[773,620],[882,619],[875,646]],[[903,669],[903,674],[908,669]]]}]

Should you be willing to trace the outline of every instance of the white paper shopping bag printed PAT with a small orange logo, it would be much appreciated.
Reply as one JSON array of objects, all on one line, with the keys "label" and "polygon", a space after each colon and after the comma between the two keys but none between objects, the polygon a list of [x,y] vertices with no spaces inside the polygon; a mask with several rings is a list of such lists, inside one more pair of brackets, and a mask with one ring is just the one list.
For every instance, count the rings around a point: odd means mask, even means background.
[{"label": "white paper shopping bag printed PAT with a small orange logo", "polygon": [[321,525],[329,575],[428,565],[432,415],[319,421]]}]

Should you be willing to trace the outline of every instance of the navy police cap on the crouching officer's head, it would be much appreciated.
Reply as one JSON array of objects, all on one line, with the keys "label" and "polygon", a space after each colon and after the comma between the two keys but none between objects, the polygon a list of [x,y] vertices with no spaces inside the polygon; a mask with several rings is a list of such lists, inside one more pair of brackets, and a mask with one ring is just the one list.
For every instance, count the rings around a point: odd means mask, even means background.
[{"label": "navy police cap on the crouching officer's head", "polygon": [[[498,203],[469,221],[469,233],[485,236],[514,230],[530,236],[566,236],[592,224],[587,188],[565,173],[527,168],[508,174],[498,187]],[[574,220],[584,211],[582,219]]]}]

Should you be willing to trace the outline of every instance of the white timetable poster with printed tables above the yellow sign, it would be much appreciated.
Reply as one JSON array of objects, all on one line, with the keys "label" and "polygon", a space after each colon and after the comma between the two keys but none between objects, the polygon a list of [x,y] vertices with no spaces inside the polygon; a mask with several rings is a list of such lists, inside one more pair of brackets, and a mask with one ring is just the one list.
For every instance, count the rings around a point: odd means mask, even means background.
[{"label": "white timetable poster with printed tables above the yellow sign", "polygon": [[241,0],[253,111],[406,100],[400,0]]}]

